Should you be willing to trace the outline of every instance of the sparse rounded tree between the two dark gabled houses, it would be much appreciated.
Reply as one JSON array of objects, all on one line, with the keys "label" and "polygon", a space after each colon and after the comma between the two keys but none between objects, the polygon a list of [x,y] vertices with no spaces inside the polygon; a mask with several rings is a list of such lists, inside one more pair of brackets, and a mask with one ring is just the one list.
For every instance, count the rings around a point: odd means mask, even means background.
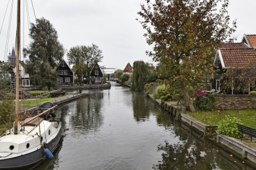
[{"label": "sparse rounded tree between the two dark gabled houses", "polygon": [[89,80],[90,71],[102,58],[102,50],[95,44],[92,44],[92,46],[71,47],[67,52],[67,59],[69,64],[73,65],[73,69],[78,76],[79,85],[82,85],[84,75]]}]

